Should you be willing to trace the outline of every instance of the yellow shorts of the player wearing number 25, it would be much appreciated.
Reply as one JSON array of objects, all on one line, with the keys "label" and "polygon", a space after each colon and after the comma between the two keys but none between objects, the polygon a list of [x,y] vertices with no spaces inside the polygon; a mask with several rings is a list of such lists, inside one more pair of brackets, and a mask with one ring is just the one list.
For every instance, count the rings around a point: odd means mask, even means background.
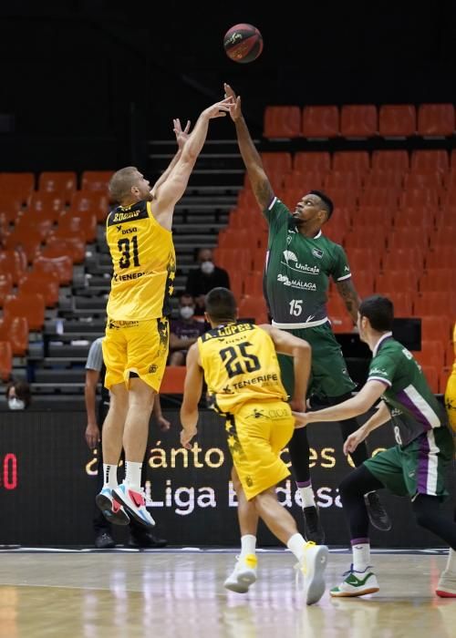
[{"label": "yellow shorts of the player wearing number 25", "polygon": [[226,417],[225,427],[247,500],[290,475],[279,456],[295,430],[295,417],[285,401],[246,403]]}]

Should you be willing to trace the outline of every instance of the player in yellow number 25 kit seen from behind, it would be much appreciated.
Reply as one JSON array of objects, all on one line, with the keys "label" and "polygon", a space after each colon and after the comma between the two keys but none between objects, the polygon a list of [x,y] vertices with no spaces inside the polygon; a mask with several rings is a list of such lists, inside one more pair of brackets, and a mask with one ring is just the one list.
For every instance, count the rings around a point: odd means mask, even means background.
[{"label": "player in yellow number 25 kit seen from behind", "polygon": [[294,357],[295,396],[291,405],[303,405],[310,346],[271,325],[236,323],[236,303],[226,288],[213,288],[207,295],[205,316],[212,330],[203,334],[187,355],[181,444],[189,449],[196,435],[204,376],[212,407],[225,417],[241,529],[241,555],[224,586],[244,593],[256,580],[256,529],[260,517],[295,554],[305,573],[306,602],[312,604],[325,591],[327,547],[306,544],[295,520],[275,495],[276,484],[290,474],[280,452],[295,427],[275,353]]}]

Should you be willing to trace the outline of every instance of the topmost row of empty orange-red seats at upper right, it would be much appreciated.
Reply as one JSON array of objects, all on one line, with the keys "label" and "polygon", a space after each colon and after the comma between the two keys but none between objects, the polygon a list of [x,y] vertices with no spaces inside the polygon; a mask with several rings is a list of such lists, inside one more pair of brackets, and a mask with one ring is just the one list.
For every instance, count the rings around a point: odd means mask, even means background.
[{"label": "topmost row of empty orange-red seats at upper right", "polygon": [[454,131],[453,104],[269,106],[264,110],[268,139],[445,138]]}]

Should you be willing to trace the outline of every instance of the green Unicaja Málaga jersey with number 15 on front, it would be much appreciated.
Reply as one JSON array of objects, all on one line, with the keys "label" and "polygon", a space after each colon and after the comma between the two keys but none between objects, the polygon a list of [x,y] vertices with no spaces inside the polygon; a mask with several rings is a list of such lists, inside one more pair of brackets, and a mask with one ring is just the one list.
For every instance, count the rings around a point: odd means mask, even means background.
[{"label": "green Unicaja M\u00e1laga jersey with number 15 on front", "polygon": [[283,328],[324,324],[329,277],[337,282],[351,277],[344,249],[321,231],[311,238],[302,235],[276,197],[264,216],[269,224],[264,288],[273,323]]}]

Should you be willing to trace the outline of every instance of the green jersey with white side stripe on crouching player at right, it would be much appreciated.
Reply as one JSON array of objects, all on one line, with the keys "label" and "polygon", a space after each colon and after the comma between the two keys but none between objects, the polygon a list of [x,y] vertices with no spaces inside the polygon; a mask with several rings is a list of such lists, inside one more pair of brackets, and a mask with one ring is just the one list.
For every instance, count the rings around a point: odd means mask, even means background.
[{"label": "green jersey with white side stripe on crouching player at right", "polygon": [[381,381],[387,386],[382,398],[389,406],[401,445],[423,432],[447,425],[445,410],[433,395],[420,365],[391,333],[384,334],[375,347],[368,381]]}]

